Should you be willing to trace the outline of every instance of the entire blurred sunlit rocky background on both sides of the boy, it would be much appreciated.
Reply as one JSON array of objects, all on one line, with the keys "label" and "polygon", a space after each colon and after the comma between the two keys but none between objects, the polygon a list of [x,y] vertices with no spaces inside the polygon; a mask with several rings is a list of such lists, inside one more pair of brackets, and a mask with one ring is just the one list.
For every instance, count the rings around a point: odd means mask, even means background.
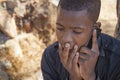
[{"label": "entire blurred sunlit rocky background on both sides of the boy", "polygon": [[[0,80],[43,80],[44,48],[56,41],[58,0],[0,0]],[[98,21],[113,36],[116,0],[102,0]]]}]

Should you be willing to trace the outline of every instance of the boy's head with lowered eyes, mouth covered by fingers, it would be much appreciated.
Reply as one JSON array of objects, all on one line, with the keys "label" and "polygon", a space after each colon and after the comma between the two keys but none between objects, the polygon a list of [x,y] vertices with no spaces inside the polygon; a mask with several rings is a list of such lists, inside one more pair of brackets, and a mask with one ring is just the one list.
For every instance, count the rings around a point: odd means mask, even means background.
[{"label": "boy's head with lowered eyes, mouth covered by fingers", "polygon": [[60,0],[56,26],[58,41],[63,46],[70,43],[71,48],[75,44],[85,45],[99,17],[100,6],[100,0]]}]

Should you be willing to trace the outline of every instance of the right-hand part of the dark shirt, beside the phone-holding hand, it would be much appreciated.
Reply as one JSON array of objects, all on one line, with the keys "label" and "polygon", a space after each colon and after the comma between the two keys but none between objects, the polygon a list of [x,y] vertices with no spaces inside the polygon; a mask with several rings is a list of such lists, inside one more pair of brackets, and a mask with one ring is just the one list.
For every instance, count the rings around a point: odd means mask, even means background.
[{"label": "right-hand part of the dark shirt, beside the phone-holding hand", "polygon": [[107,74],[109,79],[117,80],[115,78],[120,74],[120,41],[106,34],[101,34],[99,40],[103,49],[101,52],[105,54],[100,56],[97,64],[99,75],[104,73],[103,76]]}]

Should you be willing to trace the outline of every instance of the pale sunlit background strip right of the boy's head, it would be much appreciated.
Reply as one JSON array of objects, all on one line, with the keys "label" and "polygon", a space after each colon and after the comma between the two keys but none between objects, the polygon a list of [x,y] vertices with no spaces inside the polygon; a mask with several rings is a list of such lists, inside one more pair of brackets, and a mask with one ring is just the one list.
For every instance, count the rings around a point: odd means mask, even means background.
[{"label": "pale sunlit background strip right of the boy's head", "polygon": [[117,0],[101,0],[101,13],[99,20],[102,23],[102,32],[114,36],[117,23]]}]

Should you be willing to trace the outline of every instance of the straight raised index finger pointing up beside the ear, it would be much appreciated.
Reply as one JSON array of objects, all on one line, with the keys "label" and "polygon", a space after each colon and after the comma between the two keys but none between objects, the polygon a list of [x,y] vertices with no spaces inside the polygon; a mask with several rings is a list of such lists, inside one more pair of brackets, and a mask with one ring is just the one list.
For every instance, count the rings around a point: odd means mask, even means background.
[{"label": "straight raised index finger pointing up beside the ear", "polygon": [[93,31],[93,37],[92,37],[92,49],[93,51],[98,50],[98,43],[97,43],[97,32],[96,29]]}]

